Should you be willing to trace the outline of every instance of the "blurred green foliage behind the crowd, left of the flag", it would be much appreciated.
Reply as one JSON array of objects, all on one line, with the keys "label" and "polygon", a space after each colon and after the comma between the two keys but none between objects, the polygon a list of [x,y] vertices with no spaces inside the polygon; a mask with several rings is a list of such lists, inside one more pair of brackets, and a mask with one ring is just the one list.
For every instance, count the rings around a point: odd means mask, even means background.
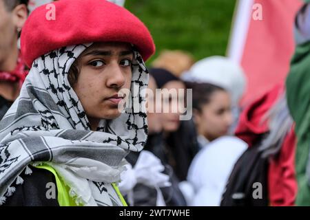
[{"label": "blurred green foliage behind the crowd, left of the flag", "polygon": [[[236,0],[126,0],[161,50],[186,50],[198,61],[225,55]],[[134,28],[134,27],[133,27]],[[148,62],[148,63],[149,63]]]}]

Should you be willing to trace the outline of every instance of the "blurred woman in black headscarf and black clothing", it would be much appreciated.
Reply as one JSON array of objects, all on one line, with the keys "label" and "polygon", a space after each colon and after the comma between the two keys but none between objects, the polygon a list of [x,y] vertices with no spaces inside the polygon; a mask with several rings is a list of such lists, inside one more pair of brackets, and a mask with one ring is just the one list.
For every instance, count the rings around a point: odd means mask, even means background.
[{"label": "blurred woman in black headscarf and black clothing", "polygon": [[[158,88],[178,92],[178,98],[185,100],[186,87],[180,78],[171,72],[161,68],[149,69],[154,77]],[[163,90],[162,90],[163,92]],[[163,144],[165,162],[172,166],[179,181],[187,177],[187,172],[192,159],[198,152],[199,146],[196,138],[196,129],[192,120],[180,120],[180,109],[178,109],[178,99],[172,96],[161,98],[162,106],[169,106],[169,112],[161,112],[161,124],[163,126]],[[176,107],[178,111],[171,111]]]}]

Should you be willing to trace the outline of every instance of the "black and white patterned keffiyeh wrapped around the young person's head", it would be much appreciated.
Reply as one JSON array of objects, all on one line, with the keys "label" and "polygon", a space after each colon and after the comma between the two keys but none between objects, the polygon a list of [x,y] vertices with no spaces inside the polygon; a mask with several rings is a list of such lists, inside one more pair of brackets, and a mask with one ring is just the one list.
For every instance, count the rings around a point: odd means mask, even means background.
[{"label": "black and white patterned keffiyeh wrapped around the young person's head", "polygon": [[[37,58],[19,98],[0,122],[0,204],[22,184],[28,165],[52,166],[85,206],[121,206],[111,183],[120,173],[129,151],[141,151],[147,139],[145,93],[148,72],[134,50],[131,102],[115,120],[101,120],[90,130],[85,111],[68,82],[76,58],[91,45],[73,45]],[[105,188],[102,190],[102,188]],[[72,193],[71,193],[72,192]]]}]

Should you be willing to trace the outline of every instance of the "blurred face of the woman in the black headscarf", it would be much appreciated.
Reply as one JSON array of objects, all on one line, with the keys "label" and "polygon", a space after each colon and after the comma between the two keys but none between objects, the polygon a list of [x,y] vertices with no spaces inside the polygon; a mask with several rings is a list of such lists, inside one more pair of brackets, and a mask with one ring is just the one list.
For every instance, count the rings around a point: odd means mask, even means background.
[{"label": "blurred face of the woman in the black headscarf", "polygon": [[[180,81],[173,80],[166,83],[162,89],[176,89],[176,91],[179,91],[179,89],[183,89],[183,91],[185,91],[185,85]],[[178,98],[179,95],[180,94],[178,93]],[[184,94],[182,94],[182,96],[184,96]],[[172,112],[172,107],[178,107],[178,98],[167,97],[162,102],[163,105],[169,105],[169,113],[161,114],[163,130],[165,132],[177,131],[178,127],[180,126],[180,111],[177,111],[176,113]]]}]

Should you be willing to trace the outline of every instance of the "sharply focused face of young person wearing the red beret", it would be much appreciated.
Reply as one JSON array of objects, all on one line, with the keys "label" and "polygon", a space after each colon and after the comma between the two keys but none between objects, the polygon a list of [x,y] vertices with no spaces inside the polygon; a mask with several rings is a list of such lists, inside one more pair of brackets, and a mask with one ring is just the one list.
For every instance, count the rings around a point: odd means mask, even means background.
[{"label": "sharply focused face of young person wearing the red beret", "polygon": [[[92,129],[101,119],[121,115],[118,103],[120,89],[130,89],[132,47],[129,43],[94,43],[77,59],[79,77],[72,85],[81,100]],[[125,97],[127,99],[127,97]]]}]

